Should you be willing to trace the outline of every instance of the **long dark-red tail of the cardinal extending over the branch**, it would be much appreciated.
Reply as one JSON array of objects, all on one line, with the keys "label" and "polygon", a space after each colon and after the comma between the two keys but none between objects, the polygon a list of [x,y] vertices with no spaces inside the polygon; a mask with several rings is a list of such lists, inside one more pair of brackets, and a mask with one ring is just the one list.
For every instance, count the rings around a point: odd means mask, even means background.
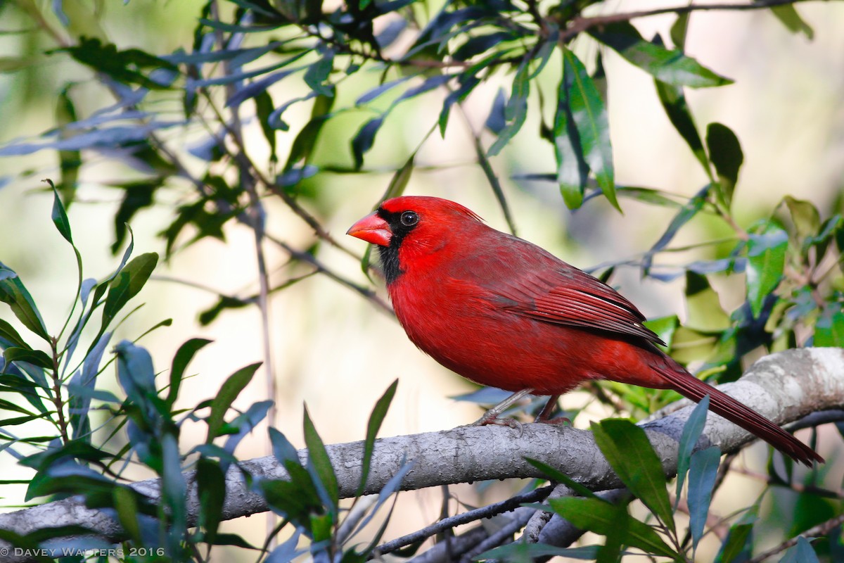
[{"label": "long dark-red tail of the cardinal extending over the branch", "polygon": [[689,372],[673,371],[670,368],[658,371],[670,382],[674,391],[679,392],[685,398],[690,398],[695,403],[700,402],[708,394],[710,398],[709,409],[713,413],[720,414],[733,424],[739,425],[744,430],[760,437],[780,452],[793,458],[794,461],[805,463],[809,467],[812,466],[813,461],[824,462],[824,458],[820,457],[818,452],[806,446],[787,431],[782,430],[771,420],[766,419],[747,405],[739,403],[728,394],[701,382],[700,379],[692,376]]}]

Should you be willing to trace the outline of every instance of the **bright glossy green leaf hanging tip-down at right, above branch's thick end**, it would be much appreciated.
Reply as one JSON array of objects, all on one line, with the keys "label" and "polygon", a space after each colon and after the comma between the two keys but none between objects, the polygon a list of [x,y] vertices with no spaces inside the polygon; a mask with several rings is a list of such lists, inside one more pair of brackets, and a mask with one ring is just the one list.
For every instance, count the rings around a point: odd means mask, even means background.
[{"label": "bright glossy green leaf hanging tip-down at right, above branch's thick end", "polygon": [[788,234],[768,224],[762,234],[747,241],[747,298],[753,316],[758,318],[765,298],[780,284],[785,268]]}]

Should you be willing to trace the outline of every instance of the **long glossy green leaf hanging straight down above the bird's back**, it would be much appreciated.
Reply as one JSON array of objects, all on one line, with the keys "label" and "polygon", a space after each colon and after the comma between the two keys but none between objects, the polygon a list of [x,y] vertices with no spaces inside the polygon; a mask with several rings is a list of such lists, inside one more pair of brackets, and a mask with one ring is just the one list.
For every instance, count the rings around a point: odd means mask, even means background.
[{"label": "long glossy green leaf hanging straight down above the bird's back", "polygon": [[598,181],[603,195],[618,209],[615,197],[613,148],[609,142],[607,108],[586,67],[569,49],[563,48],[563,80],[571,118],[577,129],[583,160]]}]

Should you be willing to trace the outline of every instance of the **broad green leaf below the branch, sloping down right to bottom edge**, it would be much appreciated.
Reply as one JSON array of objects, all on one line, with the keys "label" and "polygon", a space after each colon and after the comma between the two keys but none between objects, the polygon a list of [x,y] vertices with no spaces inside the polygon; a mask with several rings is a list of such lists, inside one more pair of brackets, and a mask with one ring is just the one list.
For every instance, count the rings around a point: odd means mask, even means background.
[{"label": "broad green leaf below the branch, sloping down right to bottom edge", "polygon": [[[606,536],[614,533],[619,518],[624,518],[625,543],[653,555],[663,555],[682,560],[680,555],[668,547],[662,538],[647,524],[639,522],[625,512],[624,507],[614,506],[600,499],[564,497],[548,501],[551,510],[571,522],[576,528],[589,530]],[[619,513],[621,516],[619,516]]]}]

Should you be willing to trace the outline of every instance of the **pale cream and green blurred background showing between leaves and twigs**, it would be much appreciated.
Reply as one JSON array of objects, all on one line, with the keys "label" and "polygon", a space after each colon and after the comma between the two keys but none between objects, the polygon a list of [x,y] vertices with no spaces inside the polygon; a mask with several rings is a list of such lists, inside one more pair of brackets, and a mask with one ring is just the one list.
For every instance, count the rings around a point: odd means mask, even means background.
[{"label": "pale cream and green blurred background showing between leaves and twigs", "polygon": [[[31,142],[61,121],[61,89],[73,83],[73,101],[79,117],[113,103],[95,74],[67,55],[41,55],[46,47],[62,46],[61,37],[51,36],[33,24],[27,2],[0,2],[0,146]],[[432,3],[436,6],[436,3]],[[671,3],[604,3],[607,12],[656,8]],[[120,49],[137,47],[155,54],[178,48],[190,50],[193,30],[203,6],[201,2],[79,2],[63,3],[70,22],[70,35],[108,38]],[[433,8],[432,8],[433,9]],[[824,216],[844,211],[844,4],[801,3],[800,14],[810,24],[812,37],[789,32],[770,13],[697,12],[690,19],[686,52],[706,67],[732,78],[734,84],[713,89],[687,90],[690,107],[700,123],[722,122],[733,129],[744,149],[744,166],[736,188],[733,208],[741,225],[769,216],[781,199],[790,194],[811,201]],[[51,29],[62,30],[58,14],[44,10]],[[90,17],[95,14],[95,17]],[[672,16],[636,20],[647,38],[668,35]],[[594,42],[578,40],[576,52],[596,49]],[[668,122],[653,91],[652,78],[631,66],[614,51],[604,53],[609,77],[609,122],[615,160],[616,181],[624,186],[654,187],[690,198],[706,183],[706,176],[679,135]],[[376,71],[360,72],[338,88],[337,106],[354,106],[354,100],[380,79]],[[480,214],[493,227],[506,230],[506,221],[492,197],[483,171],[476,164],[472,131],[483,132],[484,122],[498,87],[507,86],[509,75],[500,73],[475,89],[463,105],[465,118],[452,113],[445,138],[433,134],[422,144],[407,194],[433,195],[453,199]],[[495,84],[495,80],[500,84]],[[560,73],[550,70],[540,81],[554,89]],[[278,99],[306,93],[301,77],[275,84],[269,92]],[[408,100],[392,112],[366,156],[365,173],[324,172],[300,184],[300,203],[324,225],[343,246],[361,256],[365,244],[345,240],[345,230],[369,213],[387,188],[393,173],[403,165],[426,133],[436,123],[443,94]],[[154,99],[159,110],[179,119],[176,96],[161,94]],[[284,113],[290,131],[296,132],[309,119],[311,102],[291,106]],[[266,143],[252,117],[246,118],[244,143],[265,160]],[[327,122],[317,143],[312,163],[324,168],[349,168],[353,157],[349,141],[360,125],[373,116],[362,108]],[[520,180],[519,175],[551,174],[555,158],[549,143],[533,133],[538,130],[538,112],[506,149],[492,160],[503,185],[518,235],[543,246],[580,268],[623,261],[646,251],[665,230],[670,214],[663,208],[622,199],[624,214],[616,212],[604,198],[594,198],[572,212],[565,208],[554,181]],[[207,165],[190,152],[208,138],[203,129],[170,128],[164,131],[168,145],[179,152],[191,170]],[[489,146],[494,137],[483,132]],[[292,133],[278,135],[277,152],[284,154]],[[51,193],[42,178],[60,175],[57,151],[0,158],[0,261],[19,273],[38,303],[48,328],[60,327],[68,314],[75,291],[73,251],[51,227]],[[101,279],[119,260],[111,253],[114,217],[122,192],[115,183],[137,178],[133,167],[111,160],[105,154],[90,154],[78,175],[76,201],[68,214],[74,241],[84,259],[84,276]],[[172,189],[158,192],[154,204],[141,209],[131,220],[135,253],[164,253],[160,232],[171,219],[173,206],[187,201],[192,187],[176,182]],[[307,249],[315,244],[313,230],[277,198],[264,198],[266,230],[290,246]],[[176,349],[187,338],[203,336],[214,344],[197,355],[193,375],[182,385],[185,407],[212,398],[220,382],[243,365],[262,361],[262,322],[257,307],[223,311],[214,322],[203,326],[200,311],[213,306],[218,294],[252,295],[257,291],[257,253],[252,230],[233,221],[224,227],[224,240],[203,238],[184,246],[191,233],[179,239],[178,250],[160,263],[154,278],[135,299],[144,306],[123,322],[116,338],[134,339],[165,318],[170,327],[159,328],[139,344],[147,347],[157,371],[165,371]],[[729,235],[716,219],[699,218],[682,230],[674,246]],[[125,243],[124,243],[125,247]],[[289,266],[289,255],[265,245],[268,271],[273,285],[295,279],[302,272]],[[665,265],[688,263],[711,257],[706,249],[657,257]],[[383,284],[371,284],[360,261],[322,244],[314,252],[333,272],[356,284],[373,287],[387,300]],[[717,282],[713,281],[713,284]],[[647,317],[677,314],[682,319],[683,284],[641,280],[638,268],[619,268],[613,284],[633,300]],[[732,311],[744,294],[731,291],[725,281],[719,287],[722,306]],[[398,393],[381,429],[381,436],[395,436],[431,430],[446,430],[468,424],[479,416],[477,405],[456,402],[451,397],[473,391],[464,381],[437,365],[414,348],[398,322],[353,290],[326,275],[315,274],[275,292],[270,300],[270,342],[274,378],[278,384],[279,430],[295,446],[303,447],[301,420],[303,403],[326,443],[356,441],[365,436],[365,423],[381,393],[396,378]],[[0,317],[14,323],[3,306]],[[18,325],[16,325],[18,326]],[[21,329],[23,330],[23,329]],[[105,387],[116,388],[114,371],[102,376]],[[235,406],[246,409],[267,397],[263,372],[253,380]],[[566,409],[587,403],[582,392],[563,399]],[[594,413],[600,417],[600,410]],[[587,426],[589,416],[575,424]],[[203,430],[187,423],[183,447],[202,441]],[[744,461],[751,468],[764,468],[764,447],[750,448]],[[266,427],[248,436],[237,451],[243,459],[268,454]],[[0,454],[3,474],[26,471],[13,457]],[[138,477],[143,477],[138,475]],[[14,477],[9,477],[14,479]],[[754,479],[733,478],[737,491],[735,506],[745,506],[761,490]],[[479,492],[468,485],[452,488],[452,494],[467,505],[495,500],[496,490],[517,489],[512,483],[491,485]],[[23,502],[24,485],[6,485],[4,504]],[[738,491],[741,491],[738,494]],[[499,495],[500,496],[500,495]],[[719,495],[723,513],[731,511],[732,498]],[[743,504],[744,503],[744,504]],[[457,506],[452,501],[452,512]],[[460,507],[462,510],[465,507]],[[400,495],[397,516],[392,518],[387,538],[421,528],[441,512],[441,491],[424,490]],[[256,517],[226,526],[260,544],[263,526]],[[699,553],[703,553],[702,551]]]}]

